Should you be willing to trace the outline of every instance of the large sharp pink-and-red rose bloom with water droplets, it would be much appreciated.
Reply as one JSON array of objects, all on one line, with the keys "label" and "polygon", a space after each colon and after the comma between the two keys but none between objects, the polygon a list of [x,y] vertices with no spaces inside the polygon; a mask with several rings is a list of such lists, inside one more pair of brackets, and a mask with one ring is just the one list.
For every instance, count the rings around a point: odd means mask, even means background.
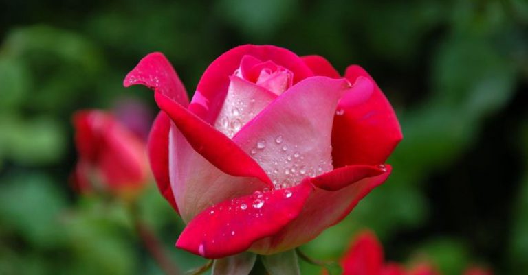
[{"label": "large sharp pink-and-red rose bloom with water droplets", "polygon": [[187,223],[176,246],[206,258],[296,248],[391,174],[399,123],[371,76],[274,46],[223,53],[192,101],[162,53],[124,86],[153,88],[148,141],[162,195]]}]

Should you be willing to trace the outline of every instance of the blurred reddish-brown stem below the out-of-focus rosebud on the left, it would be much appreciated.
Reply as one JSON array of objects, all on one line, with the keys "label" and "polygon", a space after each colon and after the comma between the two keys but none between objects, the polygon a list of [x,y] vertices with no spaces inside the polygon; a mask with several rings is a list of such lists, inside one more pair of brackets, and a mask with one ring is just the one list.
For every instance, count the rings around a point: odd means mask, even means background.
[{"label": "blurred reddish-brown stem below the out-of-focus rosebud on the left", "polygon": [[165,249],[162,246],[162,243],[157,239],[156,235],[148,228],[148,226],[142,222],[137,204],[131,202],[129,204],[131,216],[133,219],[135,230],[137,234],[140,235],[140,239],[143,242],[144,247],[151,254],[153,259],[157,262],[159,267],[163,270],[166,275],[181,275],[177,266],[170,260],[167,256]]}]

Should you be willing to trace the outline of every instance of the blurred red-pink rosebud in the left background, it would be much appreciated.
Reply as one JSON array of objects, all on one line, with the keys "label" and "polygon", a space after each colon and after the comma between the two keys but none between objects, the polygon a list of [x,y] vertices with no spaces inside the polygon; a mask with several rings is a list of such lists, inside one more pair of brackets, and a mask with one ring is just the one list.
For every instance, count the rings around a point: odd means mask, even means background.
[{"label": "blurred red-pink rosebud in the left background", "polygon": [[73,180],[79,191],[137,193],[149,175],[142,139],[113,115],[100,110],[78,111],[73,123],[78,151]]}]

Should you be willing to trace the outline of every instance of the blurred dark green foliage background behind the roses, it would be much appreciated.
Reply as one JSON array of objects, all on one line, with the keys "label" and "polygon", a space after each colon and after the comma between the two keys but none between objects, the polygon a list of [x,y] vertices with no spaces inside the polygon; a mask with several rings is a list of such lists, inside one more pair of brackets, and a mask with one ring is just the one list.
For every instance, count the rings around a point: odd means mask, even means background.
[{"label": "blurred dark green foliage background behind the roses", "polygon": [[[0,274],[162,274],[121,202],[68,183],[70,117],[134,99],[152,119],[152,93],[122,87],[146,53],[165,53],[192,95],[245,43],[361,64],[401,121],[393,176],[306,254],[337,259],[372,228],[389,260],[528,272],[525,0],[1,0],[0,43]],[[174,248],[183,224],[154,184],[140,205],[182,270],[203,263]]]}]

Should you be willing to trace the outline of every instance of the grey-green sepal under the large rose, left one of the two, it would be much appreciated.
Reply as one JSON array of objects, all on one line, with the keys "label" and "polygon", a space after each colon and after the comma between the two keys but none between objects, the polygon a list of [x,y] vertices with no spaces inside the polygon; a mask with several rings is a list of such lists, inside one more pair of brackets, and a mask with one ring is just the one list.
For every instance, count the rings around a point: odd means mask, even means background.
[{"label": "grey-green sepal under the large rose, left one of the two", "polygon": [[243,252],[214,260],[212,275],[248,275],[255,265],[256,254]]}]

